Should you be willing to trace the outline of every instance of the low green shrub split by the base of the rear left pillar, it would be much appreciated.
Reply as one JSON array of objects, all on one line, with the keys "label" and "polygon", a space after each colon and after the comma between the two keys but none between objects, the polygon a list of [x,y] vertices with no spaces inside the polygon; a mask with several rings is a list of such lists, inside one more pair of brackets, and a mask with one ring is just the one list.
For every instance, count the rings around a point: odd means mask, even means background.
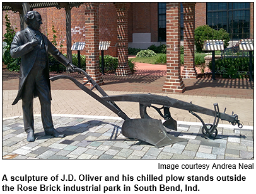
[{"label": "low green shrub split by the base of the rear left pillar", "polygon": [[[100,62],[100,72],[102,72],[102,56],[99,57]],[[128,60],[128,65],[131,72],[134,73],[136,70],[136,65],[131,59]],[[104,55],[104,71],[108,73],[114,73],[118,67],[118,58],[112,57],[110,55]]]}]

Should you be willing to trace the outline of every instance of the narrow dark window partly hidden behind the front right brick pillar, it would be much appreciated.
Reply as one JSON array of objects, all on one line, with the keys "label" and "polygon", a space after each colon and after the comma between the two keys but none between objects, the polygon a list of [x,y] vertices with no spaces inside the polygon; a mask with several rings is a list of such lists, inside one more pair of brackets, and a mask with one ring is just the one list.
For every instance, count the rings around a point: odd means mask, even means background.
[{"label": "narrow dark window partly hidden behind the front right brick pillar", "polygon": [[[180,3],[180,38],[183,40],[183,6]],[[166,41],[166,3],[158,3],[158,41]]]}]

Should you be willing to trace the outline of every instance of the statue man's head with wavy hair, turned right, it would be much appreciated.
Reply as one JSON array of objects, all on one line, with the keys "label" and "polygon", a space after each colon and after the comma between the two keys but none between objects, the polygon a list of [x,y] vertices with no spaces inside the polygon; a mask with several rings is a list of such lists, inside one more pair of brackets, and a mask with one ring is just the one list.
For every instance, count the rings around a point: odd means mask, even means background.
[{"label": "statue man's head with wavy hair, turned right", "polygon": [[25,23],[33,30],[39,30],[42,23],[40,13],[37,11],[28,11],[25,15]]}]

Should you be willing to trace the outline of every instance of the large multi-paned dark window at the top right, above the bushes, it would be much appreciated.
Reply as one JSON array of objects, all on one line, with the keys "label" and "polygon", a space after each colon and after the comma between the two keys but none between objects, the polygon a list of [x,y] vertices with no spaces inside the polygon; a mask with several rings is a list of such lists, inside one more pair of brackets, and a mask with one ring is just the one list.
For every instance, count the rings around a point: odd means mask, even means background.
[{"label": "large multi-paned dark window at the top right, above the bushes", "polygon": [[250,38],[250,3],[207,3],[207,24],[223,28],[231,40]]}]

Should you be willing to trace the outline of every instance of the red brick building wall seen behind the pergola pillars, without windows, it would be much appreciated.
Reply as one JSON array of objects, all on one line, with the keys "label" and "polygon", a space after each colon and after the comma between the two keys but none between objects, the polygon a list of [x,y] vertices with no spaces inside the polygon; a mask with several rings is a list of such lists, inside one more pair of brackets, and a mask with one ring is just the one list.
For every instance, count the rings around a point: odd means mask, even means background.
[{"label": "red brick building wall seen behind the pergola pillars, without windows", "polygon": [[[84,41],[86,39],[85,31],[85,4],[79,8],[71,10],[71,34],[72,43],[76,41]],[[34,9],[42,14],[43,26],[42,31],[48,34],[52,39],[52,26],[57,31],[58,45],[61,41],[66,46],[66,20],[65,10],[57,8],[41,8]],[[18,13],[9,11],[11,24],[20,30],[20,16]],[[3,11],[3,34],[5,33],[5,11]],[[250,37],[253,38],[253,3],[250,3]],[[99,5],[99,41],[111,41],[110,48],[105,54],[117,57],[117,13],[113,3],[100,3]],[[195,4],[195,28],[207,24],[207,6],[206,3]],[[165,41],[158,41],[158,3],[131,3],[128,10],[128,42],[129,47],[148,48],[155,44],[159,45]],[[82,51],[81,54],[85,54]]]}]

